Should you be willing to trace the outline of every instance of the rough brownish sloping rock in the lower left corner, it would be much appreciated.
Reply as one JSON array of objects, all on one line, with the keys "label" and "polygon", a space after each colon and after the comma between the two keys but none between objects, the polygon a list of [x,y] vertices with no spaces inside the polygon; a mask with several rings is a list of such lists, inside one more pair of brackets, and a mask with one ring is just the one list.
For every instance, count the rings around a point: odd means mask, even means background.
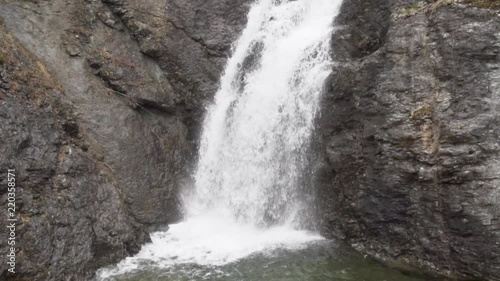
[{"label": "rough brownish sloping rock in the lower left corner", "polygon": [[[97,268],[139,251],[149,235],[122,204],[112,170],[81,138],[64,93],[37,58],[0,26],[13,87],[0,94],[0,198],[16,175],[16,274],[2,280],[88,280]],[[27,81],[21,77],[30,77]],[[21,85],[23,87],[21,87]],[[23,92],[21,92],[23,91]],[[8,217],[0,223],[7,225]],[[0,234],[7,237],[7,229]],[[12,245],[0,241],[5,256]]]}]

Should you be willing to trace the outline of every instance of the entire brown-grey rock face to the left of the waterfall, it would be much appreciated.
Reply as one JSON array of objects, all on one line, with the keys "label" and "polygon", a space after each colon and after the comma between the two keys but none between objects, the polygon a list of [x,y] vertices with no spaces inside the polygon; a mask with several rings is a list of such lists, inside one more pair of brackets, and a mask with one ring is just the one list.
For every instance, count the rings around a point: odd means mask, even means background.
[{"label": "entire brown-grey rock face to the left of the waterfall", "polygon": [[19,220],[2,278],[89,280],[180,218],[246,2],[0,1],[0,166]]}]

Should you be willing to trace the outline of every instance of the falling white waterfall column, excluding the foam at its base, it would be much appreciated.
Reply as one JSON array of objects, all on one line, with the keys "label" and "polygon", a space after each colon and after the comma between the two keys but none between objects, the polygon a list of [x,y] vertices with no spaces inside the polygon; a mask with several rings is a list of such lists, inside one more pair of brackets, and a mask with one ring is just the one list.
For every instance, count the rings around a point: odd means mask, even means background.
[{"label": "falling white waterfall column, excluding the foam at its base", "polygon": [[258,226],[297,222],[340,1],[262,0],[248,16],[206,117],[188,216]]}]

